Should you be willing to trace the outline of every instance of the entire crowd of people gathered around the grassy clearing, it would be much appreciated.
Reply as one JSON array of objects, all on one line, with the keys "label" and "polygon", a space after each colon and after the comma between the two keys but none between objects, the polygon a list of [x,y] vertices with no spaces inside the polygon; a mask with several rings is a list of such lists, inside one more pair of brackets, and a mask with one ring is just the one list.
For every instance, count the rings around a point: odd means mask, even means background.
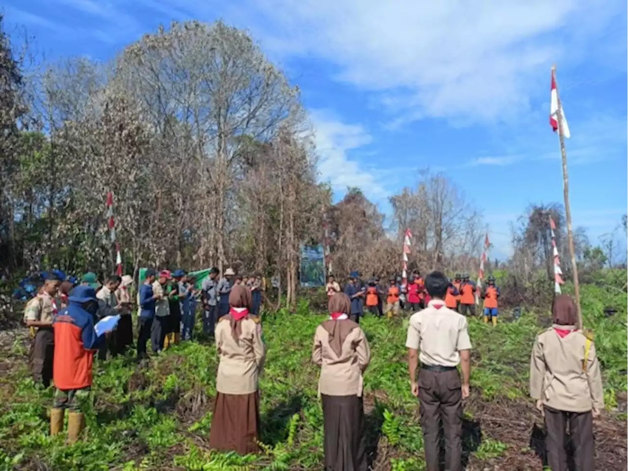
[{"label": "entire crowd of people gathered around the grassy clearing", "polygon": [[[266,359],[259,317],[263,282],[257,276],[239,277],[231,269],[224,276],[212,270],[200,288],[194,281],[183,271],[146,271],[138,295],[138,355],[146,355],[149,340],[153,352],[159,354],[176,344],[180,335],[192,338],[194,322],[188,317],[194,313],[189,306],[202,300],[203,330],[213,334],[219,355],[210,447],[254,453],[260,428],[258,381]],[[411,283],[403,288],[398,280],[389,281],[386,290],[377,279],[364,286],[359,274],[352,273],[341,290],[333,277],[328,280],[329,315],[313,332],[311,350],[311,360],[320,367],[325,468],[368,468],[362,398],[371,349],[359,320],[364,305],[382,317],[386,301],[389,316],[397,315],[401,306],[409,305],[414,311],[406,338],[408,374],[410,393],[420,403],[426,469],[439,469],[442,430],[446,468],[460,471],[463,399],[470,395],[468,315],[473,315],[471,306],[475,306],[469,302],[468,290],[474,295],[475,285],[467,276],[450,280],[440,272],[425,279],[413,273]],[[31,350],[33,377],[44,386],[52,379],[57,388],[50,433],[62,431],[67,410],[70,443],[78,440],[84,428],[81,404],[92,386],[94,351],[104,349],[106,357],[107,352],[119,354],[129,345],[129,332],[124,330],[131,324],[97,333],[95,320],[102,315],[100,310],[105,314],[117,311],[121,319],[130,315],[128,290],[132,284],[132,279],[111,277],[100,286],[94,274],[88,273],[72,288],[51,277],[26,306],[26,323],[36,330]],[[57,301],[57,295],[63,299]],[[482,297],[485,321],[497,318],[499,288],[494,279],[489,279]],[[595,345],[577,329],[576,307],[569,296],[556,296],[552,312],[554,324],[532,347],[530,393],[546,423],[549,466],[555,471],[567,470],[569,428],[576,469],[593,470],[593,418],[604,409]]]}]

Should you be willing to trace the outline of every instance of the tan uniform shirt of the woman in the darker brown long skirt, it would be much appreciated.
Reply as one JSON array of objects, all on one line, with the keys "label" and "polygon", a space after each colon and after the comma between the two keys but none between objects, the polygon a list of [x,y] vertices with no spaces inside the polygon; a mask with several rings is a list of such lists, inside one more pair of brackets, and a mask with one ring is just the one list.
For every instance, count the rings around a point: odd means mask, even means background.
[{"label": "tan uniform shirt of the woman in the darker brown long skirt", "polygon": [[347,335],[338,356],[329,345],[329,333],[319,325],[314,335],[312,361],[321,367],[318,393],[362,396],[362,373],[371,361],[371,349],[361,328],[356,327]]}]

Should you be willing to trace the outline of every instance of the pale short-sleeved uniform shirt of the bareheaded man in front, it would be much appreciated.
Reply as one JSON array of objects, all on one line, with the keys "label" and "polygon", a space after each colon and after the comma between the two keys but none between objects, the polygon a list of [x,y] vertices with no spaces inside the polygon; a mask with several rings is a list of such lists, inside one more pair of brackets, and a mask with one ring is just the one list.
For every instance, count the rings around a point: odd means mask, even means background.
[{"label": "pale short-sleeved uniform shirt of the bareheaded man in front", "polygon": [[458,352],[471,349],[467,318],[448,309],[445,301],[431,300],[410,317],[406,347],[420,350],[419,360],[425,365],[455,367],[460,363]]}]

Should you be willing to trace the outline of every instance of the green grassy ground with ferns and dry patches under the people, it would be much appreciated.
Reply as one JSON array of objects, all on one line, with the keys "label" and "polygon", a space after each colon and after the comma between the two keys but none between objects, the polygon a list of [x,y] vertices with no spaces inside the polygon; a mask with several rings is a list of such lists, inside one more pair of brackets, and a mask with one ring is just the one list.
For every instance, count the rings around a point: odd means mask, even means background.
[{"label": "green grassy ground with ferns and dry patches under the people", "polygon": [[[583,288],[587,325],[596,333],[609,410],[596,422],[598,468],[623,470],[628,458],[628,296],[605,319],[607,293]],[[139,365],[131,357],[97,365],[86,439],[72,447],[48,435],[52,390],[33,387],[26,372],[26,331],[0,335],[0,469],[24,470],[321,470],[322,411],[311,338],[320,315],[279,313],[264,320],[268,345],[261,379],[263,453],[251,457],[208,450],[217,358],[212,345],[187,342]],[[597,314],[599,313],[599,315]],[[496,328],[470,322],[474,343],[472,396],[465,403],[468,470],[538,470],[541,418],[528,399],[529,352],[547,315],[504,316]],[[366,318],[372,347],[365,374],[369,461],[374,470],[423,469],[418,404],[409,393],[407,320]],[[5,381],[6,379],[6,381]]]}]

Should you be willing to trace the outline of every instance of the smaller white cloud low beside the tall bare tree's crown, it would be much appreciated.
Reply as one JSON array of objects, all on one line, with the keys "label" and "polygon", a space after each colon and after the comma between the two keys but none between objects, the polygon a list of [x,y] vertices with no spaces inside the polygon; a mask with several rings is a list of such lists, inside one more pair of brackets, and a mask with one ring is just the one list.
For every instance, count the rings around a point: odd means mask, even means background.
[{"label": "smaller white cloud low beside the tall bare tree's crown", "polygon": [[350,151],[363,148],[372,137],[360,124],[345,124],[327,112],[311,114],[315,128],[315,142],[320,156],[320,179],[328,181],[336,195],[342,195],[347,187],[359,187],[373,200],[386,198],[389,193],[377,181],[374,171],[349,157]]}]

